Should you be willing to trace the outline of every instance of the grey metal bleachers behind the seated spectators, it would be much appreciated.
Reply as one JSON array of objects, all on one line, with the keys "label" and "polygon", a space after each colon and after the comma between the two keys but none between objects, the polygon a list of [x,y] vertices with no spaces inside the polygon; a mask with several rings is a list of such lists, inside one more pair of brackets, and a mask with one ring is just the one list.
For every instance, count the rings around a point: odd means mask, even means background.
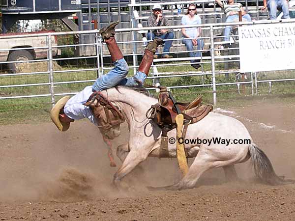
[{"label": "grey metal bleachers behind the seated spectators", "polygon": [[[105,0],[107,1],[107,0]],[[108,0],[110,1],[110,0]],[[101,10],[99,13],[100,21],[98,24],[98,28],[103,27],[106,25],[107,22],[115,21],[119,19],[121,23],[119,24],[118,28],[142,28],[148,27],[147,21],[148,17],[151,15],[151,6],[158,2],[162,5],[163,14],[166,18],[169,19],[171,25],[180,25],[181,17],[185,14],[187,5],[189,3],[195,3],[197,5],[197,13],[202,19],[203,24],[211,24],[211,23],[220,23],[225,22],[225,15],[223,10],[216,5],[215,0],[186,0],[186,1],[175,1],[175,0],[160,0],[160,1],[151,1],[151,0],[131,0],[129,4],[126,4],[126,0],[118,1],[120,6],[127,6],[129,11],[124,10],[123,12],[122,7],[120,10],[115,9],[115,3],[110,1],[111,5],[107,5],[107,2],[100,3],[102,6],[105,4],[107,8]],[[262,4],[262,0],[255,0],[255,2]],[[249,11],[250,15],[253,19],[262,19],[267,18],[267,12],[259,11],[258,6],[254,3],[254,0],[245,0],[242,1],[243,5],[246,6],[246,9]],[[177,7],[181,8],[181,13],[178,13]],[[119,8],[119,7],[118,7]],[[105,11],[105,12],[103,12]],[[95,14],[95,13],[91,13]],[[84,17],[87,17],[87,14],[83,14]],[[90,15],[88,15],[90,16]],[[127,21],[128,20],[128,21]],[[175,39],[180,39],[182,37],[180,29],[174,30]],[[141,41],[146,39],[147,30],[142,30],[136,33],[136,36],[132,36],[129,33],[120,33],[117,40],[118,41]],[[214,36],[221,36],[222,29],[214,30]],[[209,43],[205,39],[205,37],[209,36],[209,30],[203,29],[202,30],[202,37],[204,37],[205,41],[205,48],[204,50],[209,49]],[[143,44],[145,45],[145,43]],[[128,46],[127,44],[120,45],[124,54],[132,54],[135,53],[142,53],[143,47],[137,47],[136,51],[134,51],[133,46]],[[173,46],[171,48],[171,52],[179,52],[185,51],[185,47],[181,43],[181,40],[175,40],[173,42]],[[161,49],[159,50],[161,52]],[[104,48],[104,52],[108,53],[107,49]]]}]

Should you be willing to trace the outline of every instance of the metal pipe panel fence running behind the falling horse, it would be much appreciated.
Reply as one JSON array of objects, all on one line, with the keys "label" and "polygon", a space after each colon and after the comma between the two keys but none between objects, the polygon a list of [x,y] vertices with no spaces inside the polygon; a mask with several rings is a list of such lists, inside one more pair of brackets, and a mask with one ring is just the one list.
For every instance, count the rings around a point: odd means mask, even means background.
[{"label": "metal pipe panel fence running behind the falling horse", "polygon": [[[258,83],[268,82],[270,85],[272,82],[281,81],[294,81],[294,78],[282,78],[282,79],[264,79],[259,80],[257,73],[240,73],[239,72],[239,55],[238,55],[238,39],[237,35],[231,35],[232,42],[224,42],[224,36],[214,36],[214,30],[223,29],[225,26],[244,26],[256,24],[269,24],[269,23],[295,23],[294,20],[288,21],[254,21],[254,22],[241,22],[241,23],[217,23],[217,24],[203,24],[195,26],[171,26],[176,31],[180,28],[192,28],[201,27],[202,30],[208,30],[209,35],[203,35],[201,39],[206,40],[209,44],[209,49],[203,49],[200,57],[187,56],[188,51],[175,51],[174,58],[159,58],[154,59],[154,63],[151,68],[151,74],[148,77],[148,81],[152,81],[154,85],[165,85],[169,88],[210,88],[212,93],[213,104],[217,102],[217,90],[224,85],[231,86],[236,85],[235,90],[240,91],[243,85],[250,85],[253,95],[254,91],[257,92]],[[133,45],[133,53],[125,54],[129,56],[128,61],[131,61],[132,65],[129,66],[129,70],[135,72],[138,67],[138,59],[144,53],[144,45],[146,42],[142,39],[138,39],[139,31],[160,29],[161,27],[147,27],[147,28],[120,28],[116,32],[128,32],[134,36],[132,41],[118,42],[119,45],[131,44]],[[167,28],[167,27],[166,27]],[[207,32],[203,32],[207,33]],[[58,36],[64,38],[65,36],[74,35],[95,35],[95,43],[93,44],[64,44],[53,45],[53,38]],[[42,34],[24,34],[17,36],[18,38],[45,38],[45,46],[42,47],[26,47],[15,49],[0,49],[0,52],[30,50],[30,52],[42,49],[46,51],[46,57],[42,59],[31,60],[16,60],[16,61],[1,61],[0,64],[25,64],[32,69],[19,70],[16,73],[6,71],[0,74],[0,100],[4,99],[17,99],[17,98],[37,98],[37,97],[51,97],[51,103],[54,104],[56,96],[75,94],[79,90],[83,89],[86,85],[91,85],[95,79],[102,74],[106,74],[112,66],[107,62],[110,55],[104,54],[106,51],[104,48],[106,45],[102,43],[99,30],[89,31],[75,31],[75,32],[49,32]],[[0,41],[13,40],[15,36],[0,36]],[[182,39],[173,39],[174,42],[181,42]],[[81,47],[85,45],[91,45],[96,48],[96,55],[77,57],[74,55],[68,55],[65,57],[54,57],[53,52],[59,48],[73,49],[75,47]],[[225,47],[226,46],[226,47]],[[177,46],[175,46],[177,47]],[[181,46],[182,47],[182,46]],[[182,47],[183,49],[183,47]],[[159,48],[159,55],[161,54],[162,47]],[[197,52],[194,50],[193,52]],[[92,63],[89,64],[88,60],[91,59]],[[199,60],[197,63],[201,65],[199,70],[193,69],[190,64],[190,60]],[[70,65],[71,60],[80,60],[82,66],[73,68]],[[68,65],[59,67],[57,63],[67,61]],[[34,66],[35,64],[35,66]],[[45,64],[45,69],[41,70],[42,64]],[[245,76],[248,75],[246,79]],[[233,77],[234,76],[234,77]],[[237,77],[242,76],[241,80]],[[181,79],[189,78],[188,82],[183,83]],[[173,79],[178,79],[173,81]],[[180,79],[180,80],[179,80]],[[148,88],[152,89],[152,88]],[[154,89],[154,88],[153,88]]]}]

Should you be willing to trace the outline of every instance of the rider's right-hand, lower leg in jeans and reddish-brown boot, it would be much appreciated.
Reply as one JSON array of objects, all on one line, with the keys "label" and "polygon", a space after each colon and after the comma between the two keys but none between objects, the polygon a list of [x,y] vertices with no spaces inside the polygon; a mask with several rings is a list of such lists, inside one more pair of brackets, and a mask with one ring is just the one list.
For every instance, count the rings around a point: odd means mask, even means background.
[{"label": "rider's right-hand, lower leg in jeans and reddish-brown boot", "polygon": [[153,55],[155,54],[157,47],[162,43],[163,41],[160,38],[155,38],[152,42],[149,42],[136,74],[131,78],[123,79],[118,85],[141,86],[148,76],[149,68],[153,61]]}]

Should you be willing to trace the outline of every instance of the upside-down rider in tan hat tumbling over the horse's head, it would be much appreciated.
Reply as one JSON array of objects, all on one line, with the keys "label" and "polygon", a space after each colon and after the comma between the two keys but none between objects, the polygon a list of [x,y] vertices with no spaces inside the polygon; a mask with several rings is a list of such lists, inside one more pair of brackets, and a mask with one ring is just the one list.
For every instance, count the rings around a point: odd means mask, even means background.
[{"label": "upside-down rider in tan hat tumbling over the horse's head", "polygon": [[146,80],[150,65],[153,61],[153,55],[158,45],[162,44],[163,41],[162,39],[155,38],[152,42],[149,42],[138,71],[133,77],[125,78],[128,74],[128,65],[115,39],[115,27],[118,23],[119,21],[114,22],[110,24],[110,26],[104,27],[99,31],[103,41],[107,44],[115,67],[108,74],[96,79],[92,86],[85,87],[72,98],[70,98],[70,96],[63,97],[56,103],[50,112],[50,116],[60,131],[66,131],[71,122],[85,117],[97,125],[90,108],[83,105],[94,91],[101,91],[116,85],[141,86]]}]

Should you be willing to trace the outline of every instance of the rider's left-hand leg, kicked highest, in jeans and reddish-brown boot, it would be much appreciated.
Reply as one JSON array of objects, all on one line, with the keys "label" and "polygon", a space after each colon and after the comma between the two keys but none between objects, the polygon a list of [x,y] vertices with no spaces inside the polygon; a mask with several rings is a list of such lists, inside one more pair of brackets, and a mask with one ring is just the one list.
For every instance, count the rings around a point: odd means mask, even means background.
[{"label": "rider's left-hand leg, kicked highest, in jeans and reddish-brown boot", "polygon": [[128,74],[128,65],[115,39],[115,27],[118,23],[112,23],[110,26],[104,27],[99,31],[104,42],[107,44],[115,67],[108,74],[96,79],[92,85],[94,91],[101,91],[116,86]]}]

